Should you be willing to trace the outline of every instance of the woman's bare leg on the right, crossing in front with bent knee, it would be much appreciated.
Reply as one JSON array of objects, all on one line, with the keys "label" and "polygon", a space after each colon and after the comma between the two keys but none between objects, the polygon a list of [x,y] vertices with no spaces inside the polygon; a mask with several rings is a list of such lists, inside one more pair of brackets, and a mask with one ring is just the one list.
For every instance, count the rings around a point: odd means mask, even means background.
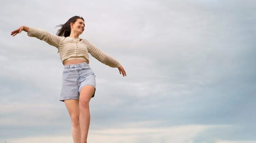
[{"label": "woman's bare leg on the right, crossing in front with bent knee", "polygon": [[87,143],[87,136],[90,126],[89,102],[94,93],[94,87],[87,85],[80,90],[79,95],[79,122],[81,130],[81,143]]}]

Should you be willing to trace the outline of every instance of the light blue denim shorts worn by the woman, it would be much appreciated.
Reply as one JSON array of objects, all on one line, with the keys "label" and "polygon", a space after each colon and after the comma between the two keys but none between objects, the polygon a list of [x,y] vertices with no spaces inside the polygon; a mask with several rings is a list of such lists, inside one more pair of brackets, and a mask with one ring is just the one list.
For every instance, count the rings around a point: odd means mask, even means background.
[{"label": "light blue denim shorts worn by the woman", "polygon": [[96,89],[95,75],[88,63],[64,65],[60,101],[79,100],[80,90],[85,85],[91,85]]}]

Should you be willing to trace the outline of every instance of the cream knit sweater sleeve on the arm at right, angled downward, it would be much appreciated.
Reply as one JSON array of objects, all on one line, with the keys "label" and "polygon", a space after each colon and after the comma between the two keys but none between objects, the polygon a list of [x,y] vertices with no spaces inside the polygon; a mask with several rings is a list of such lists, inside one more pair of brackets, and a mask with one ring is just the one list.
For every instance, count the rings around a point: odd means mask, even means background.
[{"label": "cream knit sweater sleeve on the arm at right, angled downward", "polygon": [[108,65],[110,67],[120,67],[121,64],[115,60],[115,58],[112,58],[108,54],[104,53],[102,50],[97,48],[92,43],[88,42],[88,52],[97,60],[99,60],[101,63]]}]

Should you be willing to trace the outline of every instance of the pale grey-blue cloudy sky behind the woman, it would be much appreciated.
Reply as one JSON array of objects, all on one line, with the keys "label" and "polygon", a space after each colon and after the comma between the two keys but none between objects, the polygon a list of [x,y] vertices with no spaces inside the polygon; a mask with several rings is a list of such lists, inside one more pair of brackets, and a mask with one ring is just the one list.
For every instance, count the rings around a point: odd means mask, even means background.
[{"label": "pale grey-blue cloudy sky behind the woman", "polygon": [[74,15],[127,74],[90,55],[89,143],[256,143],[254,0],[0,1],[0,143],[72,143],[58,50],[10,33]]}]

